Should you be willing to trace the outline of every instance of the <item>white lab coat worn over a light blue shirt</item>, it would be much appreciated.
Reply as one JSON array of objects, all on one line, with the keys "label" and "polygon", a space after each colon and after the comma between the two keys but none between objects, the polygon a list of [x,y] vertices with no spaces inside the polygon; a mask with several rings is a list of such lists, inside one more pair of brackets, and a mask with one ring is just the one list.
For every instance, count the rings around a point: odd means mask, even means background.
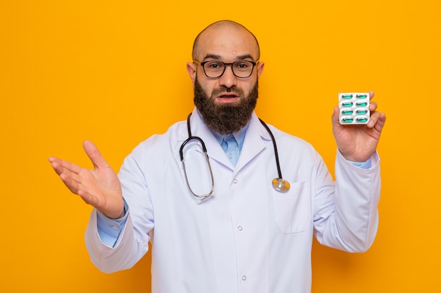
[{"label": "white lab coat worn over a light blue shirt", "polygon": [[[254,113],[236,167],[196,110],[191,129],[209,153],[213,197],[196,204],[188,191],[179,157],[186,122],[147,139],[118,174],[130,211],[115,247],[101,242],[92,213],[87,248],[102,271],[130,268],[151,241],[154,293],[306,293],[311,292],[313,235],[348,252],[371,246],[380,196],[376,154],[370,169],[337,154],[335,185],[309,143],[271,126],[282,175],[291,183],[280,193],[271,185],[278,175],[271,137]],[[204,193],[211,180],[197,149],[194,143],[186,148],[187,172],[192,188]]]}]

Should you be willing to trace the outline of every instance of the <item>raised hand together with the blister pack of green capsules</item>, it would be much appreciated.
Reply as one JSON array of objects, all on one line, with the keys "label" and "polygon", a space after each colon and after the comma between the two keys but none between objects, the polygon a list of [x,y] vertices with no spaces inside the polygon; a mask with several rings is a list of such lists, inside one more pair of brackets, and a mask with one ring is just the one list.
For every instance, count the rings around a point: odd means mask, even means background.
[{"label": "raised hand together with the blister pack of green capsules", "polygon": [[333,134],[345,159],[366,162],[375,152],[386,122],[385,113],[377,111],[374,93],[339,93],[334,108]]}]

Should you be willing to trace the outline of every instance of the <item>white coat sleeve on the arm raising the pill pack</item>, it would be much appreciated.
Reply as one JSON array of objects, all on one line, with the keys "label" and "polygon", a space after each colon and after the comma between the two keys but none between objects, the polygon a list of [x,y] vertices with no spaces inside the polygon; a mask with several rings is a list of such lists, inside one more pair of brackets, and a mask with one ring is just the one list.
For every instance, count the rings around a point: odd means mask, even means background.
[{"label": "white coat sleeve on the arm raising the pill pack", "polygon": [[369,159],[363,169],[337,152],[335,183],[321,184],[325,168],[318,168],[314,234],[323,245],[347,252],[365,252],[371,247],[378,228],[380,200],[380,159]]}]

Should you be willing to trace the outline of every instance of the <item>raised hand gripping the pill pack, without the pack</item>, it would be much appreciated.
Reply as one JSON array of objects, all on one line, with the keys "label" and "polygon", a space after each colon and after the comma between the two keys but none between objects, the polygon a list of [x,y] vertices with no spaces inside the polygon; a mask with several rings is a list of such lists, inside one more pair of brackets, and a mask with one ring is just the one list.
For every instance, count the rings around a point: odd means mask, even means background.
[{"label": "raised hand gripping the pill pack, without the pack", "polygon": [[386,122],[385,113],[377,112],[377,103],[372,101],[373,91],[369,92],[371,118],[367,125],[341,125],[338,119],[339,108],[334,108],[333,134],[337,147],[345,159],[354,162],[366,162],[375,152],[380,134]]}]

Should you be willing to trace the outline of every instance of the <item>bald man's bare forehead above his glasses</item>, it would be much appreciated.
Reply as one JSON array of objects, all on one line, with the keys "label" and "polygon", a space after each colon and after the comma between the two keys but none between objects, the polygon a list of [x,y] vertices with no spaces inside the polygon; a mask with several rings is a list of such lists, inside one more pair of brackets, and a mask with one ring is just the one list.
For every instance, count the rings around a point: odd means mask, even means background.
[{"label": "bald man's bare forehead above his glasses", "polygon": [[236,60],[250,56],[259,58],[259,48],[254,36],[242,27],[222,25],[209,27],[201,33],[196,49],[197,59],[219,56],[222,60]]}]

